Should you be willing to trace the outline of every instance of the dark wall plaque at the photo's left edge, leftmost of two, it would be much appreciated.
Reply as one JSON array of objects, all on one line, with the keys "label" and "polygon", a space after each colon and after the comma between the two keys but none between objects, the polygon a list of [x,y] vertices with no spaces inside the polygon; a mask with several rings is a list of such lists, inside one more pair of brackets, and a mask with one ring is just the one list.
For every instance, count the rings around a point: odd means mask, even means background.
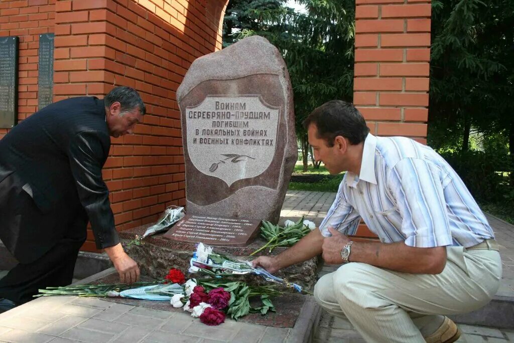
[{"label": "dark wall plaque at the photo's left edge, leftmost of two", "polygon": [[18,119],[18,37],[0,37],[0,127]]}]

